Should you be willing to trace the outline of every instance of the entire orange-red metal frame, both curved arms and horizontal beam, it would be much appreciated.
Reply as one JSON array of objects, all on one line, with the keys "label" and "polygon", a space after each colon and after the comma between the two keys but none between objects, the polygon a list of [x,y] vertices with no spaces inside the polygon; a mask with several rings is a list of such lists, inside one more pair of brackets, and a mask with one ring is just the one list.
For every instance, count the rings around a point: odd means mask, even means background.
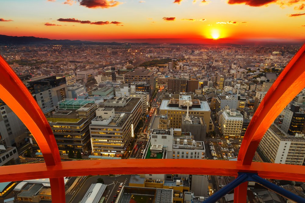
[{"label": "entire orange-red metal frame, both curved arms and horizontal beam", "polygon": [[[303,166],[252,162],[261,138],[282,109],[305,87],[305,44],[292,58],[254,114],[240,148],[238,161],[189,159],[121,159],[60,162],[52,130],[38,104],[0,57],[1,99],[17,114],[36,139],[45,163],[2,166],[0,180],[50,178],[52,201],[65,202],[63,177],[79,175],[172,173],[237,176],[258,173],[262,178],[305,181]],[[21,168],[22,167],[22,168]],[[234,202],[245,202],[247,184],[235,188]]]}]

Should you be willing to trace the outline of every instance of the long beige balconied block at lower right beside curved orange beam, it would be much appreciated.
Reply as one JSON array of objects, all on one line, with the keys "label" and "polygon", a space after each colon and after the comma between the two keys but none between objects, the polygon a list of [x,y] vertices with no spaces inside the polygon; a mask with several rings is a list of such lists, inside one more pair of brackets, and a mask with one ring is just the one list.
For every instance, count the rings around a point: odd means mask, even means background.
[{"label": "long beige balconied block at lower right beside curved orange beam", "polygon": [[302,165],[305,159],[304,134],[288,135],[272,124],[260,145],[260,155],[271,163]]}]

